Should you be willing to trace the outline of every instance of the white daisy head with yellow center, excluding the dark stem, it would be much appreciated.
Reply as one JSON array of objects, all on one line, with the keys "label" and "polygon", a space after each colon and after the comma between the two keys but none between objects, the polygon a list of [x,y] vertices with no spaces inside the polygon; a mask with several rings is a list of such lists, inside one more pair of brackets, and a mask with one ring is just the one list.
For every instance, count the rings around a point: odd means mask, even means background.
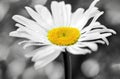
[{"label": "white daisy head with yellow center, excluding the dark stem", "polygon": [[[95,6],[98,1],[94,0],[86,11],[78,8],[73,13],[71,5],[64,1],[52,1],[51,11],[42,5],[36,5],[35,10],[25,7],[33,20],[14,15],[18,29],[10,36],[25,38],[19,43],[24,48],[39,46],[26,54],[32,57],[36,69],[52,62],[61,52],[68,51],[74,55],[91,53],[97,50],[97,43],[108,45],[106,37],[116,33],[97,21],[103,14]],[[86,25],[90,19],[92,21]]]}]

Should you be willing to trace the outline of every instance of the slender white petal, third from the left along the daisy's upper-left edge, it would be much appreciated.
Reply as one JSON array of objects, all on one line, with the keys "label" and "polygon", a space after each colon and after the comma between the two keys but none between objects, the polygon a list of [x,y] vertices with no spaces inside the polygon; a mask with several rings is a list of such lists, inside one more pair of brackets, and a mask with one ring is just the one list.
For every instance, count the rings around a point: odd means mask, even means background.
[{"label": "slender white petal, third from the left along the daisy's upper-left edge", "polygon": [[37,23],[45,28],[46,30],[49,30],[48,28],[50,27],[47,23],[45,23],[45,21],[42,19],[42,17],[37,13],[35,12],[32,8],[30,7],[25,7],[27,12],[30,14],[30,16],[35,20],[37,21]]}]

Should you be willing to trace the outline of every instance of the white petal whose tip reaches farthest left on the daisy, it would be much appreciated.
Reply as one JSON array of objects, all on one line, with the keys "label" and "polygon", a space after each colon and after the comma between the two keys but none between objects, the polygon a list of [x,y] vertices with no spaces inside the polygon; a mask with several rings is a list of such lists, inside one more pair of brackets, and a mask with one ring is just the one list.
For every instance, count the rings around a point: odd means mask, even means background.
[{"label": "white petal whose tip reaches farthest left on the daisy", "polygon": [[10,32],[9,36],[26,38],[33,42],[49,43],[49,41],[47,40],[47,37],[39,35],[39,33],[27,30],[26,28],[24,29],[19,28],[17,29],[17,31]]}]

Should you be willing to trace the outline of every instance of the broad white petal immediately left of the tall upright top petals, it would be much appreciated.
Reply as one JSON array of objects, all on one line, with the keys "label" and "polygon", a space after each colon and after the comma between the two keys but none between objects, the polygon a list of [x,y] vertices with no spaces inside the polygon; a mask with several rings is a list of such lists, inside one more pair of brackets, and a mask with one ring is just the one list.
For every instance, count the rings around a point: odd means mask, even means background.
[{"label": "broad white petal immediately left of the tall upright top petals", "polygon": [[[53,18],[52,18],[52,15],[51,15],[50,11],[46,7],[44,7],[42,5],[36,5],[35,9],[39,13],[39,15],[41,15],[41,18],[48,25],[50,25],[51,27],[53,27]],[[50,29],[50,27],[48,27],[48,26],[45,26],[45,27]]]}]

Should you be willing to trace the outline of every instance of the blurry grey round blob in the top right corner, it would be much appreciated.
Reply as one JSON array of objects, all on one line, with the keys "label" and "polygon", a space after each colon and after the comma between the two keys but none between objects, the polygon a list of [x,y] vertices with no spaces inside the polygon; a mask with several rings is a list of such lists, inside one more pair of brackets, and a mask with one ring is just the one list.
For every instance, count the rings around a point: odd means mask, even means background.
[{"label": "blurry grey round blob in the top right corner", "polygon": [[113,25],[120,24],[120,1],[112,0],[106,3],[107,3],[107,5],[105,5],[106,21]]}]

